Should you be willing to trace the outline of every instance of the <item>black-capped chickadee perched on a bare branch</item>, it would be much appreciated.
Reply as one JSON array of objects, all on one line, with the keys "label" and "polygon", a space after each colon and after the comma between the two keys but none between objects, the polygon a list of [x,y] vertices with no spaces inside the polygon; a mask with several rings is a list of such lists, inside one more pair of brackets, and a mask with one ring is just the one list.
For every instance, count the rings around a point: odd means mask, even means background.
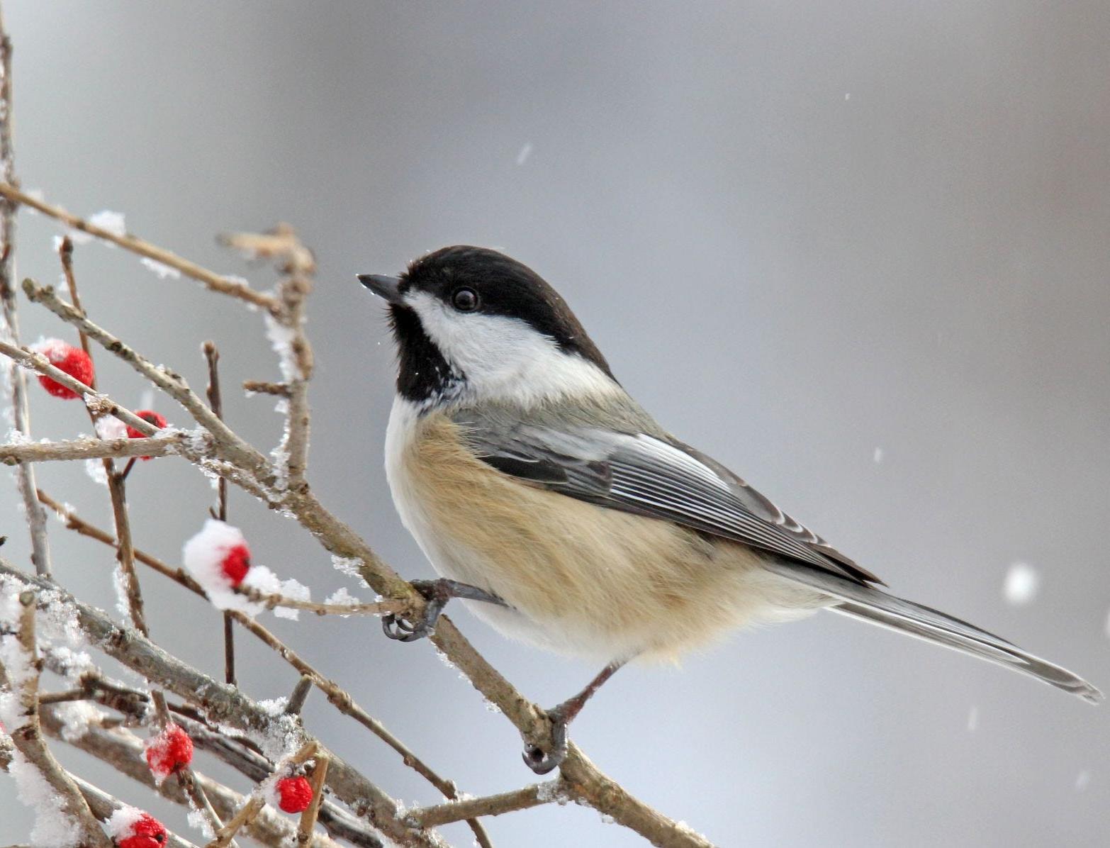
[{"label": "black-capped chickadee perched on a bare branch", "polygon": [[387,305],[397,353],[385,436],[401,521],[440,575],[414,581],[434,630],[451,598],[503,635],[602,672],[547,710],[558,767],[567,726],[630,660],[674,662],[733,630],[828,609],[980,657],[1088,701],[1067,669],[882,581],[706,454],[620,385],[566,301],[527,265],[471,245],[400,275],[359,274]]}]

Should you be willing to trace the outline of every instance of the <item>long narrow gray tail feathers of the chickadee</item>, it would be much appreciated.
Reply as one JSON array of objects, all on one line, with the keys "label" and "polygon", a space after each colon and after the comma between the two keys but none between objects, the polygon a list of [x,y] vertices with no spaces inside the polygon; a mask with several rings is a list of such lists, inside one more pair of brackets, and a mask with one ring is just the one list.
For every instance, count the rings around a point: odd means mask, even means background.
[{"label": "long narrow gray tail feathers of the chickadee", "polygon": [[1078,695],[1091,704],[1102,700],[1101,691],[1067,668],[1036,657],[992,633],[981,630],[937,609],[904,600],[800,563],[779,559],[766,563],[766,567],[783,577],[803,583],[836,598],[840,603],[828,607],[835,613],[981,657]]}]

